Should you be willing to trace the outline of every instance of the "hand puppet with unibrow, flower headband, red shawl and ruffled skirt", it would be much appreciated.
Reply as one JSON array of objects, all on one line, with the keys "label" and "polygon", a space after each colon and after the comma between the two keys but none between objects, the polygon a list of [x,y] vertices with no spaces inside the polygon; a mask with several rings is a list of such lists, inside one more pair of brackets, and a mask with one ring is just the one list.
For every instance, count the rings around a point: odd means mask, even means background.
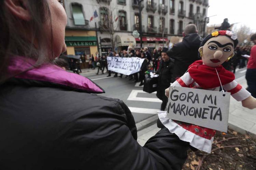
[{"label": "hand puppet with unibrow, flower headband, red shawl and ruffled skirt", "polygon": [[[241,101],[243,107],[256,108],[256,99],[234,80],[232,72],[227,71],[221,65],[233,57],[237,44],[237,34],[231,31],[215,31],[208,35],[198,50],[202,60],[191,64],[188,72],[171,86],[221,91],[221,81],[223,89],[230,92],[234,99]],[[166,96],[169,97],[169,88],[166,89]],[[181,140],[189,142],[192,149],[197,148],[208,153],[211,152],[215,130],[171,120],[166,118],[166,115],[166,112],[158,112],[160,121],[171,133],[175,133]]]}]

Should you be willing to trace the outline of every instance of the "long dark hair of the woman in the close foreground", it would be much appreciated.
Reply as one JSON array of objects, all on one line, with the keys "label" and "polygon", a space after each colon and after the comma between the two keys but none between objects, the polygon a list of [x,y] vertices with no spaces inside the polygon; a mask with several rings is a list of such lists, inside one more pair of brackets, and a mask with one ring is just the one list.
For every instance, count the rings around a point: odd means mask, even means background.
[{"label": "long dark hair of the woman in the close foreground", "polygon": [[[26,8],[31,17],[29,21],[15,16],[6,1],[0,0],[0,80],[10,56],[19,55],[43,60],[46,40],[42,24],[49,16],[45,0],[27,0]],[[35,42],[37,48],[34,46]]]}]

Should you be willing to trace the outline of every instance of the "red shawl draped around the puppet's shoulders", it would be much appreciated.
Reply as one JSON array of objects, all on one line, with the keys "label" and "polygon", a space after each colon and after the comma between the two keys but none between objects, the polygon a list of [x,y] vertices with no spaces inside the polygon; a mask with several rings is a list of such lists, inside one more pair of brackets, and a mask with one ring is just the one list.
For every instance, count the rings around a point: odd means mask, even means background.
[{"label": "red shawl draped around the puppet's shoulders", "polygon": [[216,70],[218,71],[222,85],[232,82],[235,78],[234,74],[223,68],[222,65],[209,67],[207,65],[203,65],[202,60],[195,61],[188,68],[190,68],[188,72],[191,78],[193,78],[194,81],[203,89],[221,86]]}]

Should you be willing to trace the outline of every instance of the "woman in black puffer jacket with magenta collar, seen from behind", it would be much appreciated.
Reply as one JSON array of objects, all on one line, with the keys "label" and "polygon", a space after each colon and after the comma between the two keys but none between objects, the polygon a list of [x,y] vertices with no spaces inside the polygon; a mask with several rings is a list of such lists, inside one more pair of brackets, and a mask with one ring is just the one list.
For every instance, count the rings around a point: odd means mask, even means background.
[{"label": "woman in black puffer jacket with magenta collar, seen from behind", "polygon": [[123,101],[52,64],[66,51],[61,2],[0,1],[1,169],[181,169],[187,142],[162,128],[141,147]]}]

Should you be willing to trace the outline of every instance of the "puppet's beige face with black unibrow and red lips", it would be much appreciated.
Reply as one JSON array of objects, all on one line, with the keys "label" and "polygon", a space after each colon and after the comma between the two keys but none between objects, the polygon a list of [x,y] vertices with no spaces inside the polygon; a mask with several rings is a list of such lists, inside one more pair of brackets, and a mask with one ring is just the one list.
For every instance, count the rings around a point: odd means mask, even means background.
[{"label": "puppet's beige face with black unibrow and red lips", "polygon": [[209,39],[201,48],[203,52],[203,64],[210,67],[217,67],[232,55],[234,52],[234,43],[227,36],[219,35]]}]

